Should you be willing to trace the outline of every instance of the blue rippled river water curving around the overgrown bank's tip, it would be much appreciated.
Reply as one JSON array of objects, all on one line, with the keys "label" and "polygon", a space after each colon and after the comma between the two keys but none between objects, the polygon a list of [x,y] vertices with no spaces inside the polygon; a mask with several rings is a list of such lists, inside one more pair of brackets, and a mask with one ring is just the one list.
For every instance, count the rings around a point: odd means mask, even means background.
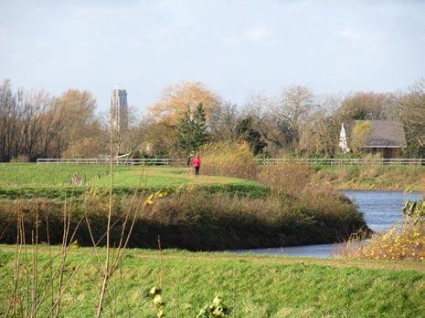
[{"label": "blue rippled river water curving around the overgrown bank's tip", "polygon": [[[373,231],[386,231],[402,217],[401,209],[406,200],[420,200],[422,193],[386,190],[344,190],[345,196],[354,200],[365,215],[367,226]],[[236,253],[288,255],[299,257],[331,257],[339,244],[314,244],[273,249],[235,250]]]}]

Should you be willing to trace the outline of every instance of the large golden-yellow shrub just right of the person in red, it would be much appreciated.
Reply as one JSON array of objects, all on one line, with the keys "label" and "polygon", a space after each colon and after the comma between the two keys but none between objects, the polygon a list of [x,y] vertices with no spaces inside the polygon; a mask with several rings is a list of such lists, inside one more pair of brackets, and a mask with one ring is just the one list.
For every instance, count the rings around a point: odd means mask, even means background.
[{"label": "large golden-yellow shrub just right of the person in red", "polygon": [[201,153],[202,170],[207,175],[257,179],[257,161],[250,151],[250,146],[245,142],[211,143],[205,146]]}]

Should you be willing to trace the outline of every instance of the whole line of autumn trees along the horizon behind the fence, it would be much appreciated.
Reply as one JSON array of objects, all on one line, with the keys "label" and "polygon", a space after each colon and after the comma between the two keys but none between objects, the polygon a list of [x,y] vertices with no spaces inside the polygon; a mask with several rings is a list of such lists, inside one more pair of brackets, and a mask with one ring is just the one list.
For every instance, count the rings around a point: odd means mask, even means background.
[{"label": "whole line of autumn trees along the horizon behind the fence", "polygon": [[[131,92],[129,92],[131,97]],[[406,157],[422,157],[425,80],[404,91],[315,96],[308,87],[282,88],[276,97],[250,95],[244,105],[219,97],[202,83],[166,87],[144,116],[130,112],[130,126],[116,138],[117,152],[133,157],[186,156],[208,142],[243,140],[263,156],[334,157],[341,123],[394,119],[404,125]],[[0,85],[0,159],[89,158],[108,154],[108,116],[96,112],[90,92],[69,89],[58,97],[43,90]]]}]

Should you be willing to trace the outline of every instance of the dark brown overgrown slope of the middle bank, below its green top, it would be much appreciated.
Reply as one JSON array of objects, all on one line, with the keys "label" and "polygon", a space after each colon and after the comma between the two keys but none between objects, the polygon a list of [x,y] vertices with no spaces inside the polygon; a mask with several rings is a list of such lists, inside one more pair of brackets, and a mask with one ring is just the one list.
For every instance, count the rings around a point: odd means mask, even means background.
[{"label": "dark brown overgrown slope of the middle bank, below its green top", "polygon": [[[64,209],[70,231],[84,246],[101,239],[107,228],[108,192],[91,190],[67,206],[57,200],[0,200],[0,240],[16,241],[22,220],[31,241],[62,242]],[[250,198],[186,189],[146,205],[146,195],[116,196],[112,207],[112,244],[118,244],[126,216],[134,217],[130,247],[155,248],[161,235],[165,248],[212,251],[328,243],[365,230],[366,222],[342,196],[318,195],[312,201],[295,197]],[[38,222],[36,222],[38,219]],[[36,228],[36,224],[38,228]],[[48,238],[49,231],[49,238]],[[90,232],[91,231],[91,232]],[[101,244],[104,240],[101,240]]]}]

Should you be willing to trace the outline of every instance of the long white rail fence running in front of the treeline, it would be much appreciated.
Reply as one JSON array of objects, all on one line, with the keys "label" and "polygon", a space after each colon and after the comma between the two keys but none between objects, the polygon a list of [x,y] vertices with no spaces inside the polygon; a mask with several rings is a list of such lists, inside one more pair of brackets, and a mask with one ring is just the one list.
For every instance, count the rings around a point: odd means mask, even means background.
[{"label": "long white rail fence running in front of the treeline", "polygon": [[[111,159],[37,159],[40,164],[109,164]],[[146,165],[146,166],[184,166],[186,159],[112,159],[115,165]],[[301,158],[267,158],[258,159],[259,164],[279,164],[282,162],[305,162],[321,165],[425,165],[425,159],[301,159]]]}]

